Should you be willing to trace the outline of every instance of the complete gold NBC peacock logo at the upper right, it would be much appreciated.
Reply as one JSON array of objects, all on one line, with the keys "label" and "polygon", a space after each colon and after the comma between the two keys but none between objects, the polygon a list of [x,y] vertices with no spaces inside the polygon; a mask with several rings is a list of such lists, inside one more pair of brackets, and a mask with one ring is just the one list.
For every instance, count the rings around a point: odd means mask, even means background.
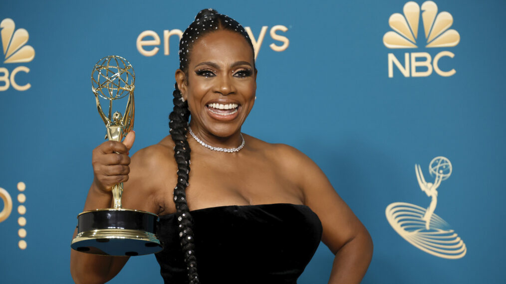
[{"label": "complete gold NBC peacock logo at the upper right", "polygon": [[[448,12],[438,14],[438,6],[432,1],[426,1],[421,5],[421,21],[425,32],[425,38],[418,36],[418,24],[420,22],[420,6],[415,2],[404,5],[403,13],[395,13],[390,16],[388,23],[394,31],[389,31],[383,36],[383,43],[389,49],[415,49],[418,44],[425,44],[426,48],[448,48],[458,44],[460,35],[454,29],[449,29],[453,24],[453,17]],[[394,64],[404,77],[427,77],[432,71],[443,77],[455,74],[455,69],[443,71],[439,68],[439,60],[442,57],[453,58],[455,55],[449,51],[436,54],[434,59],[427,52],[404,53],[404,65],[393,53],[388,54],[388,77],[394,76]],[[432,63],[431,63],[432,61]],[[423,68],[419,71],[416,67]]]}]

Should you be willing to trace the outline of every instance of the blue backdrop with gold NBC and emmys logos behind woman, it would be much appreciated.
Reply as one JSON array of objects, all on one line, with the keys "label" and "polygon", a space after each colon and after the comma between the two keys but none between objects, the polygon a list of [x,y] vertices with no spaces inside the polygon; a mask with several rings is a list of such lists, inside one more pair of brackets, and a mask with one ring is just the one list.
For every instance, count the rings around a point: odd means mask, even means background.
[{"label": "blue backdrop with gold NBC and emmys logos behind woman", "polygon": [[[365,224],[364,283],[497,283],[504,272],[503,1],[0,2],[0,282],[69,283],[105,127],[90,75],[136,74],[131,153],[168,134],[182,31],[204,8],[256,51],[244,133],[298,148]],[[321,244],[299,283],[326,283]],[[112,283],[161,283],[153,255]]]}]

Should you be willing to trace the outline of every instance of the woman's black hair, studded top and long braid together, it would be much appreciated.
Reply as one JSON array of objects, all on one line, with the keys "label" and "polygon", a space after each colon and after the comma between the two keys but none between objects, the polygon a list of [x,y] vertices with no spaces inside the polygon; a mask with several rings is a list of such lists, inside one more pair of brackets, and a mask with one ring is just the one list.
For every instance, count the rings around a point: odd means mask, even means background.
[{"label": "woman's black hair, studded top and long braid together", "polygon": [[[190,62],[189,58],[193,44],[205,34],[223,29],[241,34],[251,46],[251,52],[253,53],[253,58],[255,58],[251,39],[238,22],[226,15],[219,14],[216,10],[204,9],[198,12],[195,21],[188,26],[179,42],[179,66],[186,75],[188,75],[188,63]],[[188,271],[188,281],[190,284],[198,284],[200,281],[197,273],[197,261],[193,241],[193,218],[188,209],[185,192],[190,173],[191,150],[186,140],[190,111],[188,110],[188,103],[183,100],[177,83],[173,95],[174,110],[168,118],[170,119],[171,137],[176,144],[174,147],[174,158],[176,158],[176,163],[178,164],[178,183],[174,187],[174,203],[177,209],[176,216],[179,224],[179,236]]]}]

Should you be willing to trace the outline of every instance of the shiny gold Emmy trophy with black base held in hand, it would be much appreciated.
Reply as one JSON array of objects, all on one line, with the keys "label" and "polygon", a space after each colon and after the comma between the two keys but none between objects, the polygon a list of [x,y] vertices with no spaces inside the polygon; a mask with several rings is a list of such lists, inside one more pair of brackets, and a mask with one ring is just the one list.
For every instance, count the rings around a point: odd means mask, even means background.
[{"label": "shiny gold Emmy trophy with black base held in hand", "polygon": [[[130,62],[119,56],[104,57],[92,71],[92,90],[97,109],[107,127],[109,140],[121,141],[134,127],[135,73]],[[113,113],[113,101],[128,96],[124,115]],[[107,115],[99,98],[109,104]],[[123,183],[112,188],[114,208],[82,212],[77,216],[77,235],[72,249],[92,254],[112,256],[136,256],[162,250],[156,236],[158,216],[150,212],[121,208]]]}]

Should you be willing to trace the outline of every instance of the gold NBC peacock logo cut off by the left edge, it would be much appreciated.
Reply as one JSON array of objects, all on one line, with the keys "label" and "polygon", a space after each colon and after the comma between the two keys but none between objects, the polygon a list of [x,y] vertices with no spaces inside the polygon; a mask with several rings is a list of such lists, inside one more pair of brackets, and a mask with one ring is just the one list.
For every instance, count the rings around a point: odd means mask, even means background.
[{"label": "gold NBC peacock logo cut off by the left edge", "polygon": [[[28,42],[28,31],[25,29],[15,29],[16,25],[12,19],[4,19],[0,22],[0,36],[2,37],[2,47],[4,51],[4,63],[26,63],[33,60],[35,57],[35,50],[30,45],[25,45]],[[30,69],[25,66],[18,66],[9,72],[5,67],[0,67],[0,91],[5,91],[12,87],[18,91],[24,91],[31,87],[30,83],[19,85],[16,82],[16,74],[19,72],[30,72]],[[1,84],[1,83],[0,83]]]}]

